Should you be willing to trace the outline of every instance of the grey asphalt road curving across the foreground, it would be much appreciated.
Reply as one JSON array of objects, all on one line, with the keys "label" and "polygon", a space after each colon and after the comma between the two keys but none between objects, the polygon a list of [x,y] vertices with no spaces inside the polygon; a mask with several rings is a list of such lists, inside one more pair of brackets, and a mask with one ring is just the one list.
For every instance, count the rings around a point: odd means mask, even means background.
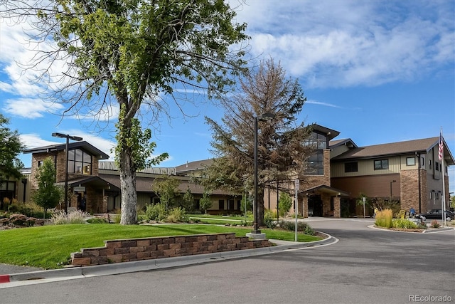
[{"label": "grey asphalt road curving across the foreground", "polygon": [[[0,303],[455,302],[455,231],[310,219],[339,241],[216,263],[0,289]],[[449,302],[450,303],[450,302]]]}]

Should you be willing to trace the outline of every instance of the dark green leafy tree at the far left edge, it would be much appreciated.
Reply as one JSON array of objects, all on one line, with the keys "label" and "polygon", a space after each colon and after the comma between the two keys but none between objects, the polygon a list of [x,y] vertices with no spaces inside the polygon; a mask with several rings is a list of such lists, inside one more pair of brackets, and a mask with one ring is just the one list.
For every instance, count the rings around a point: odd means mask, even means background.
[{"label": "dark green leafy tree at the far left edge", "polygon": [[20,179],[22,174],[19,171],[23,167],[21,154],[24,147],[19,138],[17,130],[8,127],[9,120],[0,114],[0,182],[2,179]]}]

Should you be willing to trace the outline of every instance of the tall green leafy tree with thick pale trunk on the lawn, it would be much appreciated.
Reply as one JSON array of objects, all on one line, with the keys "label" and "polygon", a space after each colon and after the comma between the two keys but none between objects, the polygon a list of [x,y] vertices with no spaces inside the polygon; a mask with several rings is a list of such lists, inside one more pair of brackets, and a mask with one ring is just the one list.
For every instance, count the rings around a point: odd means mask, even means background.
[{"label": "tall green leafy tree with thick pale trunk on the lawn", "polygon": [[112,112],[112,102],[118,106],[121,224],[135,224],[136,172],[144,165],[143,152],[151,154],[139,118],[152,124],[168,110],[163,96],[178,103],[175,94],[182,89],[208,98],[223,93],[245,64],[240,47],[247,38],[245,24],[233,22],[235,11],[223,0],[6,0],[2,5],[4,18],[38,17],[41,35],[33,38],[55,41],[33,67],[46,59],[66,61],[68,70],[57,83],[48,75],[52,68],[38,75],[50,79],[53,97],[67,104],[66,112],[102,115]]}]

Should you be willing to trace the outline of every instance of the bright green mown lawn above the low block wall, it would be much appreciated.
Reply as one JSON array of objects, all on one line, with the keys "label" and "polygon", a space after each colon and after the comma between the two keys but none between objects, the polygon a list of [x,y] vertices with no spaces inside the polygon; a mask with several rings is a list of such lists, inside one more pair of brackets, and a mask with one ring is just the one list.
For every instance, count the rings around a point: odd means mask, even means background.
[{"label": "bright green mown lawn above the low block wall", "polygon": [[[105,240],[225,232],[245,236],[250,231],[250,228],[198,224],[73,224],[3,230],[0,231],[0,263],[61,268],[70,262],[70,253],[81,248],[104,246]],[[262,229],[262,232],[268,239],[294,241],[294,232],[270,229]],[[317,236],[298,235],[301,242],[319,239]]]}]

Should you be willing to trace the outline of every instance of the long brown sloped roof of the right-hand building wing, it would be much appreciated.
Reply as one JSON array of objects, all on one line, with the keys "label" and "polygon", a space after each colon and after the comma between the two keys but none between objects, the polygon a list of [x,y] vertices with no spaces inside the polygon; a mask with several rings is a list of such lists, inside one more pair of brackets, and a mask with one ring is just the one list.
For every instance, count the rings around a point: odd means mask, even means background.
[{"label": "long brown sloped roof of the right-hand building wing", "polygon": [[[343,154],[333,157],[332,160],[365,159],[375,157],[386,157],[398,154],[426,154],[436,145],[439,145],[439,137],[424,138],[422,140],[407,140],[405,142],[392,142],[389,144],[357,147]],[[444,159],[447,164],[454,164],[454,157],[451,155],[444,141]]]}]

